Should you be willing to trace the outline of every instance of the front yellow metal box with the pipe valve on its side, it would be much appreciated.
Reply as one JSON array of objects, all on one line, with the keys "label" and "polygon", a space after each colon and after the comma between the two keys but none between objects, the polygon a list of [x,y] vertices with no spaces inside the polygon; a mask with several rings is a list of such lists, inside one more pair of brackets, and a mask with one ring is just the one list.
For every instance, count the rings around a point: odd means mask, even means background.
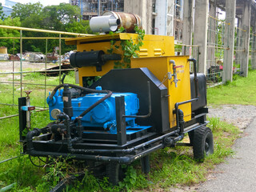
[{"label": "front yellow metal box with the pipe valve on its side", "polygon": [[[147,67],[168,89],[169,102],[169,121],[170,128],[176,126],[176,115],[173,114],[174,105],[176,102],[184,102],[190,100],[190,64],[187,61],[188,56],[166,56],[166,57],[152,57],[152,58],[132,58],[131,68]],[[174,74],[173,64],[174,60],[177,68],[178,87],[175,87],[174,78],[168,78],[168,74]],[[179,106],[184,113],[184,120],[186,122],[191,120],[191,103]]]}]

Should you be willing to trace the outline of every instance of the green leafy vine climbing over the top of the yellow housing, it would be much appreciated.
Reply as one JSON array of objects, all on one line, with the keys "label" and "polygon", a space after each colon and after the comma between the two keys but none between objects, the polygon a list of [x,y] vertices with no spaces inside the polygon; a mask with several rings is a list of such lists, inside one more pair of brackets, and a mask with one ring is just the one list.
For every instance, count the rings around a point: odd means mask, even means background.
[{"label": "green leafy vine climbing over the top of the yellow housing", "polygon": [[[124,32],[124,28],[121,27],[116,33]],[[114,68],[130,68],[130,58],[138,58],[138,50],[143,45],[143,38],[145,36],[145,30],[140,29],[138,26],[134,28],[135,33],[138,34],[135,42],[132,38],[130,40],[122,40],[120,43],[121,49],[123,51],[122,62],[114,62]],[[110,32],[110,34],[114,34]],[[110,41],[110,49],[107,50],[109,54],[114,54],[114,50],[120,50],[120,46],[116,45],[115,40]]]}]

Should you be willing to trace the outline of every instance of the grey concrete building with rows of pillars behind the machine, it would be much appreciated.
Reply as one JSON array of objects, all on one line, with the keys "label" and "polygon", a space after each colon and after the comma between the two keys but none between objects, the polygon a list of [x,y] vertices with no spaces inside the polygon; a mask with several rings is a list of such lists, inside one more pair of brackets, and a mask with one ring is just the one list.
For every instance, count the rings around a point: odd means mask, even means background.
[{"label": "grey concrete building with rows of pillars behind the machine", "polygon": [[[254,0],[73,0],[70,3],[81,7],[85,19],[106,10],[140,15],[146,34],[174,36],[176,42],[182,42],[182,54],[192,54],[198,60],[199,72],[209,74],[218,70],[223,82],[232,81],[234,62],[245,77],[249,61],[251,68],[256,69]],[[218,18],[219,10],[224,11],[225,21]]]}]

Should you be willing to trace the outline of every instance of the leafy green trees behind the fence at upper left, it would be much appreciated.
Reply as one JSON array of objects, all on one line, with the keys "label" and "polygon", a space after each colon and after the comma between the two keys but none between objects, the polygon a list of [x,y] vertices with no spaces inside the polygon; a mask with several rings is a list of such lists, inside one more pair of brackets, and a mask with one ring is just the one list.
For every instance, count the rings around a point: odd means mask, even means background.
[{"label": "leafy green trees behind the fence at upper left", "polygon": [[[28,17],[30,15],[30,17]],[[69,3],[61,3],[58,6],[46,6],[43,7],[41,3],[17,3],[14,6],[14,11],[11,17],[18,19],[20,23],[15,26],[23,26],[28,28],[43,29],[43,30],[60,30],[67,32],[74,32],[80,34],[92,33],[89,27],[88,21],[81,20],[78,22],[80,17],[80,10],[78,6],[71,6]],[[0,23],[1,24],[1,23]],[[2,24],[4,25],[4,24]],[[10,24],[6,24],[9,26]],[[18,31],[16,31],[18,33]],[[1,34],[1,33],[0,33]],[[19,36],[19,35],[18,35]],[[23,37],[55,37],[58,38],[58,34],[46,34],[41,32],[22,31]],[[10,35],[3,35],[2,37],[13,37]],[[62,38],[70,38],[74,36],[62,35]],[[6,40],[4,40],[6,41]],[[9,39],[8,41],[12,41]],[[15,42],[17,52],[19,52],[19,41]],[[45,39],[23,39],[23,50],[24,51],[36,51],[46,53],[46,40]],[[52,52],[53,47],[59,46],[59,40],[48,40],[47,52]],[[75,46],[66,46],[65,41],[61,41],[62,54],[70,50],[75,50]],[[12,49],[12,44],[6,45],[8,50]],[[17,53],[16,52],[16,53]]]}]

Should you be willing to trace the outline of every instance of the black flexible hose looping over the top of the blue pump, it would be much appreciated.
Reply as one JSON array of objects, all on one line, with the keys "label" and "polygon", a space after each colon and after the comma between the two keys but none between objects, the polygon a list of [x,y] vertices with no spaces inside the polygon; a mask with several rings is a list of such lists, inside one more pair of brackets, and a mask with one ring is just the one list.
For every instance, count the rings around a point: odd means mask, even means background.
[{"label": "black flexible hose looping over the top of the blue pump", "polygon": [[[54,88],[54,90],[51,92],[49,98],[52,99],[54,98],[54,94],[56,94],[57,90],[63,86],[70,86],[70,87],[73,87],[75,89],[78,89],[78,90],[85,90],[85,91],[88,91],[88,92],[91,92],[91,93],[99,93],[99,94],[106,94],[103,98],[101,98],[100,100],[98,100],[98,102],[95,102],[92,106],[90,106],[89,108],[87,108],[84,112],[82,112],[82,114],[80,114],[78,116],[78,118],[82,118],[83,116],[85,116],[90,110],[94,109],[95,106],[98,106],[98,104],[100,104],[101,102],[104,102],[107,98],[110,98],[110,96],[112,95],[112,91],[110,90],[93,90],[93,89],[89,89],[89,88],[86,88],[86,87],[82,87],[82,86],[76,86],[76,85],[73,85],[73,84],[61,84],[61,85],[58,85]],[[76,118],[77,119],[77,118]]]}]

